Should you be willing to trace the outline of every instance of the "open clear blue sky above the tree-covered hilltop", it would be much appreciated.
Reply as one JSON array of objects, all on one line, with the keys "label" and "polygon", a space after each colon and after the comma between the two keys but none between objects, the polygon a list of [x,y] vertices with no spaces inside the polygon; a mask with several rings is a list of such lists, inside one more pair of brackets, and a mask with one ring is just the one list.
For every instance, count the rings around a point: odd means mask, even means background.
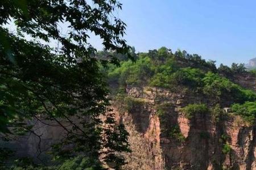
[{"label": "open clear blue sky above the tree-covered hilltop", "polygon": [[[256,57],[256,1],[120,0],[117,15],[138,52],[166,46],[200,54],[217,65]],[[93,43],[94,44],[94,43]]]}]

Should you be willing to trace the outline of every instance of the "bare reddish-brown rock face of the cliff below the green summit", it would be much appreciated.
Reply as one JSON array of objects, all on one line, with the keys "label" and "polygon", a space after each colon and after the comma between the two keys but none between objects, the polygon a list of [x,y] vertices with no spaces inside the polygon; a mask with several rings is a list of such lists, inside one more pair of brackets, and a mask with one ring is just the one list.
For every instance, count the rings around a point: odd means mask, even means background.
[{"label": "bare reddish-brown rock face of the cliff below the green summit", "polygon": [[[117,120],[130,133],[130,154],[123,169],[256,169],[255,127],[230,114],[220,122],[208,115],[196,114],[188,120],[179,112],[196,97],[156,88],[127,88],[127,94],[141,100],[127,112],[113,104]],[[156,107],[168,102],[164,117]],[[179,133],[171,134],[178,127]],[[143,129],[143,130],[142,130]],[[182,138],[181,138],[182,137]],[[224,153],[224,145],[231,150]]]}]

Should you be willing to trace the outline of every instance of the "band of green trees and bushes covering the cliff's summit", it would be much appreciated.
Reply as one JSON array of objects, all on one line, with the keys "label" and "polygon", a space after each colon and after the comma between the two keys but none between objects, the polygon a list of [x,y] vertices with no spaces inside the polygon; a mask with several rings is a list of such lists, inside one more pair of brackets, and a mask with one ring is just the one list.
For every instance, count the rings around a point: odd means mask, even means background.
[{"label": "band of green trees and bushes covering the cliff's summit", "polygon": [[[245,90],[230,79],[214,73],[216,67],[213,61],[206,62],[200,56],[185,51],[178,50],[175,54],[170,51],[164,47],[150,50],[148,53],[139,54],[135,63],[126,61],[116,69],[110,67],[108,72],[110,82],[117,81],[123,88],[147,85],[173,91],[176,91],[177,87],[189,88],[193,92],[203,92],[216,103],[220,103],[220,100],[226,97],[238,103],[256,99],[255,92]],[[225,69],[228,71],[223,71]],[[242,65],[235,64],[232,68],[221,65],[218,71],[232,75],[235,70],[237,73],[244,71]]]}]

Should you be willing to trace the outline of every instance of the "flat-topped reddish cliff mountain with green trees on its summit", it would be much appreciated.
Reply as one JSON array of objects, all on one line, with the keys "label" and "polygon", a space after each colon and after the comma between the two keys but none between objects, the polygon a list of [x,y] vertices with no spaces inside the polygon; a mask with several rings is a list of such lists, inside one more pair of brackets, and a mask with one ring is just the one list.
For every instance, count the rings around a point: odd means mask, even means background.
[{"label": "flat-topped reddish cliff mountain with green trees on its summit", "polygon": [[255,76],[162,50],[108,76],[130,134],[123,169],[256,169]]}]

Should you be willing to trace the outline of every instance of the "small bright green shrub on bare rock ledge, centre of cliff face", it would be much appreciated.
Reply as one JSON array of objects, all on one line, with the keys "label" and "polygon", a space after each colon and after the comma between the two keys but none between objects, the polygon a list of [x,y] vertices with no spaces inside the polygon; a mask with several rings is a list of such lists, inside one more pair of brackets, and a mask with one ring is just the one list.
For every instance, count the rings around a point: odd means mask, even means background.
[{"label": "small bright green shrub on bare rock ledge, centre of cliff face", "polygon": [[205,104],[188,104],[186,107],[181,108],[181,112],[185,114],[187,118],[192,118],[196,113],[207,114],[209,109]]}]

